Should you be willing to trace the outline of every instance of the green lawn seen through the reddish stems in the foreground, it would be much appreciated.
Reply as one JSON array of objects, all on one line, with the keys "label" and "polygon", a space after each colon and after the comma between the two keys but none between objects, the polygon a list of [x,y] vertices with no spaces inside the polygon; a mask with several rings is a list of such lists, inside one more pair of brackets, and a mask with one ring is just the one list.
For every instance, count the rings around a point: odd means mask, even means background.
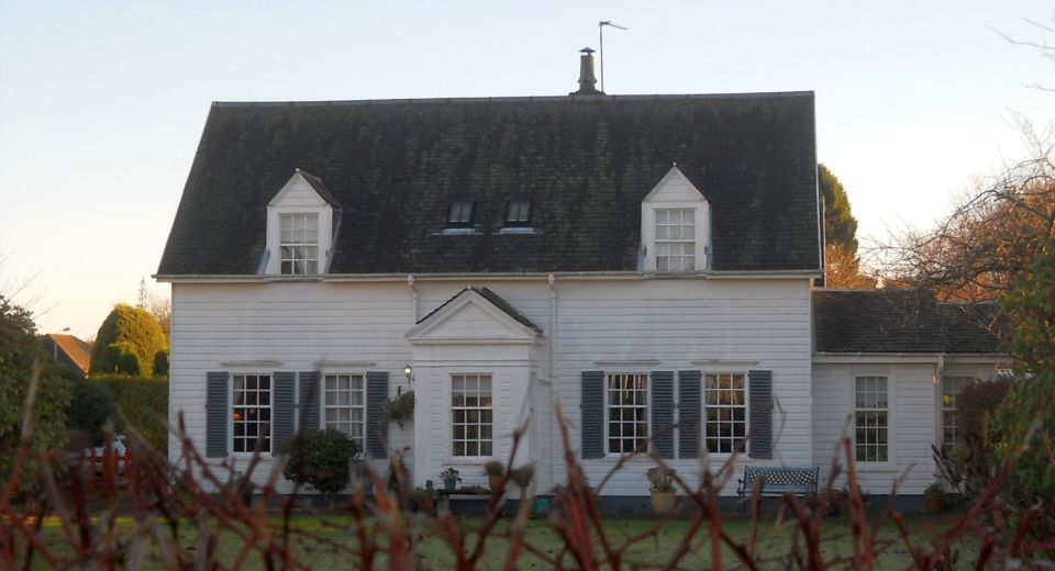
[{"label": "green lawn seen through the reddish stems in the foreground", "polygon": [[[942,529],[943,523],[947,518],[926,517],[921,515],[909,516],[909,528],[912,529],[912,540],[914,544],[923,544],[926,538]],[[474,528],[481,523],[479,517],[469,517],[460,519],[466,527]],[[278,522],[275,522],[278,525]],[[656,524],[655,519],[641,517],[609,517],[604,520],[609,540],[619,546],[625,538],[641,534]],[[131,520],[121,520],[120,526],[125,526],[131,531]],[[352,520],[346,516],[309,516],[298,515],[292,518],[292,527],[297,530],[293,542],[295,553],[312,571],[325,570],[346,570],[353,567],[354,561],[347,551],[341,550],[335,546],[349,547],[354,545],[352,536]],[[504,534],[512,525],[511,520],[502,520],[498,525],[498,533]],[[666,562],[671,553],[675,552],[679,542],[685,537],[690,523],[687,520],[668,522],[659,530],[657,537],[645,539],[632,546],[624,556],[624,561],[634,564],[655,566]],[[452,569],[455,563],[455,556],[446,541],[437,535],[433,526],[424,526],[426,530],[421,536],[419,553],[423,569]],[[737,542],[744,542],[749,535],[749,525],[743,520],[734,520],[724,524],[726,533]],[[45,522],[42,529],[42,539],[48,549],[56,553],[66,553],[68,557],[71,551],[64,545],[58,528],[57,520]],[[769,562],[763,567],[776,564],[776,559],[788,553],[791,550],[793,539],[793,528],[789,523],[778,523],[775,516],[765,520],[758,533],[758,553]],[[199,536],[197,529],[191,525],[184,525],[180,531],[181,544],[193,553],[200,549]],[[886,525],[879,530],[879,541],[895,539],[896,529],[892,525]],[[801,540],[801,537],[799,538]],[[542,553],[548,557],[556,557],[562,549],[563,542],[555,531],[549,527],[546,520],[534,519],[528,524],[528,542],[534,546]],[[598,551],[600,552],[600,544]],[[475,536],[469,538],[469,548],[475,547]],[[492,538],[484,552],[482,563],[479,569],[503,568],[508,557],[508,540],[504,538]],[[224,531],[220,535],[218,553],[221,562],[230,564],[244,548],[244,541],[233,531]],[[978,547],[974,541],[957,545],[959,550],[959,560],[962,562],[973,561],[977,556]],[[822,550],[825,560],[836,556],[852,555],[851,529],[845,520],[829,519],[824,526],[822,537]],[[43,562],[36,567],[43,568]],[[731,549],[723,547],[724,568],[737,568],[738,560]],[[878,555],[878,568],[880,569],[904,569],[911,560],[904,548],[903,542],[897,542],[880,551]],[[690,545],[690,551],[681,561],[684,569],[701,569],[710,563],[710,545],[708,542],[708,528],[704,526],[697,534],[696,539]],[[574,567],[574,560],[565,560],[565,566]],[[378,560],[378,569],[388,569],[384,559]],[[519,569],[548,569],[552,566],[532,553],[525,553],[518,562]],[[246,569],[263,568],[259,557],[251,556],[246,560]]]}]

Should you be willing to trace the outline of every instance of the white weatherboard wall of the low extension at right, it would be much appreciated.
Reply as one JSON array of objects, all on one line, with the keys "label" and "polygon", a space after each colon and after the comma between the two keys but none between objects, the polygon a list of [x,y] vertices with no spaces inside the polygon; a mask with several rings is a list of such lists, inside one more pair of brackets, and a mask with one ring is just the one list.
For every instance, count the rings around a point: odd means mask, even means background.
[{"label": "white weatherboard wall of the low extension at right", "polygon": [[[860,358],[858,362],[813,365],[813,463],[821,467],[821,485],[828,481],[832,458],[844,434],[853,445],[855,378],[878,374],[887,377],[890,392],[889,461],[857,462],[860,486],[887,494],[903,475],[899,495],[923,493],[935,479],[931,445],[939,441],[941,423],[937,365],[937,357],[933,362],[869,362]],[[992,363],[946,363],[943,374],[988,379]],[[845,467],[842,448],[839,454]],[[845,485],[845,472],[835,485]]]}]

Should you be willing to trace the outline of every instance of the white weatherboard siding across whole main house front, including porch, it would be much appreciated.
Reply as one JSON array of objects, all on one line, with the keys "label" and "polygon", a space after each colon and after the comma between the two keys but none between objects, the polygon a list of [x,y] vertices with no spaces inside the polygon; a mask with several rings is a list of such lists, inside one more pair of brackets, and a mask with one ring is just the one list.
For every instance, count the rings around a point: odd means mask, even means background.
[{"label": "white weatherboard siding across whole main house front, including porch", "polygon": [[[404,337],[414,322],[442,305],[466,286],[488,287],[535,323],[543,332],[530,351],[517,345],[489,347],[414,347]],[[773,371],[775,457],[743,462],[809,464],[811,440],[811,354],[809,279],[562,279],[556,291],[556,376],[549,371],[551,292],[545,279],[441,281],[419,278],[417,315],[413,293],[406,281],[389,282],[273,282],[258,284],[188,284],[173,287],[173,367],[170,406],[182,410],[190,435],[204,440],[204,389],[208,371],[241,372],[230,363],[279,361],[265,371],[309,371],[320,361],[366,361],[352,370],[388,371],[390,391],[404,384],[403,366],[415,365],[419,402],[429,398],[432,423],[400,430],[389,426],[390,448],[427,447],[422,466],[433,472],[414,474],[415,481],[436,479],[448,460],[451,427],[448,379],[452,372],[493,370],[496,383],[504,381],[498,399],[506,410],[534,404],[531,457],[537,462],[540,489],[553,484],[551,473],[565,478],[564,448],[554,429],[553,400],[563,405],[571,446],[578,450],[581,372],[648,372],[653,370],[702,370],[743,372]],[[487,328],[493,324],[467,312],[460,321],[445,323],[448,331]],[[457,327],[454,327],[457,325]],[[521,352],[512,355],[511,352]],[[465,360],[464,365],[457,362]],[[446,360],[447,362],[442,362]],[[455,362],[451,362],[454,360]],[[489,361],[489,362],[488,362]],[[222,365],[229,363],[229,365]],[[248,372],[259,370],[248,369]],[[336,372],[326,366],[323,372]],[[503,377],[504,376],[504,377]],[[531,382],[533,380],[534,382]],[[497,385],[497,384],[496,384]],[[441,398],[443,400],[441,400]],[[503,419],[507,422],[508,419]],[[512,424],[509,424],[512,426]],[[749,427],[748,427],[749,429]],[[507,430],[508,434],[508,430]],[[496,435],[501,430],[496,427]],[[427,444],[425,444],[427,443]],[[174,458],[176,446],[171,446]],[[424,458],[423,458],[424,460]],[[717,467],[723,458],[712,458]],[[587,460],[596,485],[614,467],[615,458]],[[699,460],[673,460],[671,464],[696,482]],[[647,495],[647,461],[634,461],[612,478],[602,491],[609,495]],[[471,467],[463,477],[482,481]],[[265,470],[266,472],[266,470]],[[265,473],[262,473],[263,478]],[[438,485],[438,483],[437,483]],[[733,493],[732,482],[725,493]]]}]

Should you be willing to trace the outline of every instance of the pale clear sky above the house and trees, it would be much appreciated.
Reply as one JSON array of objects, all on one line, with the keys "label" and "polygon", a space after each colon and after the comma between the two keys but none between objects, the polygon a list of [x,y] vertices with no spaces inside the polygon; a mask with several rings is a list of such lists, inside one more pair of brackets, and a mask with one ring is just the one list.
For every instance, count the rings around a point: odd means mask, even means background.
[{"label": "pale clear sky above the house and trees", "polygon": [[[858,236],[926,228],[1055,114],[1051,2],[0,0],[0,293],[95,335],[151,279],[212,101],[817,93]],[[1047,41],[1055,42],[1055,34]]]}]

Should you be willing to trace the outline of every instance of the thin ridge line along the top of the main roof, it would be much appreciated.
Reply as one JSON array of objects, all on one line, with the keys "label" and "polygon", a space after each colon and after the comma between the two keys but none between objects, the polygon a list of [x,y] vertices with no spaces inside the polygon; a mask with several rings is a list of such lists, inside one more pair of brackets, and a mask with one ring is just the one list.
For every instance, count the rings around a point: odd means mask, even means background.
[{"label": "thin ridge line along the top of the main roof", "polygon": [[789,99],[813,97],[813,91],[747,91],[737,93],[654,93],[625,96],[510,96],[510,97],[453,97],[404,99],[346,99],[315,101],[213,101],[213,107],[326,107],[326,105],[396,105],[396,104],[467,104],[467,103],[531,103],[531,102],[591,102],[655,101],[674,99]]}]

